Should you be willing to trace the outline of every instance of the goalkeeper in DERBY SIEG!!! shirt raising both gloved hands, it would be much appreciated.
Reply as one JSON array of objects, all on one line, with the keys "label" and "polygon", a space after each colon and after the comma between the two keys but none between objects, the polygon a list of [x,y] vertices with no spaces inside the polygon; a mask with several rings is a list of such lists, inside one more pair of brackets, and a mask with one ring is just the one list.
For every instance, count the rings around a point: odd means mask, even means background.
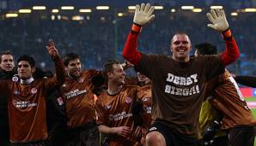
[{"label": "goalkeeper in DERBY SIEG!!! shirt raising both gloved hands", "polygon": [[154,7],[136,6],[124,56],[152,81],[152,120],[146,145],[197,145],[198,119],[206,82],[224,72],[240,53],[221,9],[207,14],[211,28],[222,33],[226,50],[220,55],[190,57],[192,44],[186,33],[171,39],[172,55],[146,55],[137,51],[142,27],[153,20]]}]

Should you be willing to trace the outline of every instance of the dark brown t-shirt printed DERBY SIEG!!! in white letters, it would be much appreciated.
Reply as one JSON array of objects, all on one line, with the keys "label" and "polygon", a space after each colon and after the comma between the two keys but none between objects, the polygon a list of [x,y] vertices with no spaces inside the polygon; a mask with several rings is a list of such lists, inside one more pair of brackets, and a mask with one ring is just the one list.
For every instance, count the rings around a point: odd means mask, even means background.
[{"label": "dark brown t-shirt printed DERBY SIEG!!! in white letters", "polygon": [[224,71],[220,55],[191,57],[186,63],[167,55],[142,55],[137,71],[152,82],[152,119],[197,137],[205,83]]}]

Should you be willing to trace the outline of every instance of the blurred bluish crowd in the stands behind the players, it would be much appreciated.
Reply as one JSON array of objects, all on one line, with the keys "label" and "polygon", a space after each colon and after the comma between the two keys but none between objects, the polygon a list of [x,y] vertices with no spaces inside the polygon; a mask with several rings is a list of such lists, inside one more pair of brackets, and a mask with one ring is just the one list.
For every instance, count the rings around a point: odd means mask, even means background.
[{"label": "blurred bluish crowd in the stands behind the players", "polygon": [[[53,38],[61,55],[76,52],[82,56],[82,66],[101,69],[109,58],[123,61],[122,50],[127,32],[131,28],[132,15],[115,16],[113,12],[83,15],[84,20],[52,20],[52,15],[20,15],[17,18],[0,20],[0,50],[11,50],[15,56],[34,56],[38,67],[52,69],[52,62],[46,54],[48,38]],[[241,58],[229,67],[238,74],[256,74],[254,34],[256,17],[253,13],[238,16],[229,15],[229,26],[241,50]],[[62,15],[64,16],[64,15]],[[224,49],[219,33],[207,27],[205,12],[168,10],[155,12],[155,20],[142,30],[139,50],[150,54],[169,54],[170,38],[174,32],[186,32],[192,44],[210,42],[219,51]]]}]

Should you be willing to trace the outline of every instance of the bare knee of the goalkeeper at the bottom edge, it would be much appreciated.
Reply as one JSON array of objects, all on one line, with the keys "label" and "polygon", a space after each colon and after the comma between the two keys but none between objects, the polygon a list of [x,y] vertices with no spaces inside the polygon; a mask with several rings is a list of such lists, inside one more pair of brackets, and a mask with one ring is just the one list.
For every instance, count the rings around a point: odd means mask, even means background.
[{"label": "bare knee of the goalkeeper at the bottom edge", "polygon": [[151,131],[146,136],[146,145],[147,146],[151,146],[151,145],[154,145],[154,146],[161,145],[162,146],[162,145],[165,145],[164,142],[165,142],[164,137],[158,131]]}]

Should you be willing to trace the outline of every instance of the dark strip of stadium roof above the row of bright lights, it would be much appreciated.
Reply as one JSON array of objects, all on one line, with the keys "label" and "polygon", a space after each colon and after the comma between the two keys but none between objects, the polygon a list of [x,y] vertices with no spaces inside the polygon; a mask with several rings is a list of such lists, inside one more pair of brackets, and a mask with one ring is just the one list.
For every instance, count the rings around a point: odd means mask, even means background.
[{"label": "dark strip of stadium roof above the row of bright lights", "polygon": [[154,5],[167,5],[177,7],[181,5],[195,5],[196,7],[206,7],[210,5],[221,4],[233,9],[252,8],[256,6],[256,0],[0,0],[0,9],[21,9],[32,7],[34,5],[45,5],[49,8],[62,5],[73,5],[75,7],[93,7],[96,5],[127,6],[137,3],[151,3]]}]

